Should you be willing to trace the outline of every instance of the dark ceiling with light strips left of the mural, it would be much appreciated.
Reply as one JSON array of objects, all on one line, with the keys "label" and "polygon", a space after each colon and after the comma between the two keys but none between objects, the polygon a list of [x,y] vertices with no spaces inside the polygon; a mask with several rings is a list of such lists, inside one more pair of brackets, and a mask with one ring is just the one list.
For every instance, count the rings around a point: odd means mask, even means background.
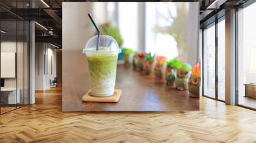
[{"label": "dark ceiling with light strips left of the mural", "polygon": [[51,42],[61,47],[61,3],[60,0],[1,0],[1,29],[8,31],[2,33],[1,38],[11,40],[16,35],[18,38],[23,35],[19,26],[21,22],[17,22],[16,28],[17,19],[22,22],[35,20],[36,41]]}]

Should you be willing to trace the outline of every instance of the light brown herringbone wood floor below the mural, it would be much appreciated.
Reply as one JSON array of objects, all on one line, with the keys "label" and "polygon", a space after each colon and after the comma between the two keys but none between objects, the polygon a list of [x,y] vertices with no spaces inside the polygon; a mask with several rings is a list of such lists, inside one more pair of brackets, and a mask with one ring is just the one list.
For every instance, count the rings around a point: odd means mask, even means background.
[{"label": "light brown herringbone wood floor below the mural", "polygon": [[59,87],[0,116],[0,142],[256,142],[256,112],[201,97],[184,114],[63,113]]}]

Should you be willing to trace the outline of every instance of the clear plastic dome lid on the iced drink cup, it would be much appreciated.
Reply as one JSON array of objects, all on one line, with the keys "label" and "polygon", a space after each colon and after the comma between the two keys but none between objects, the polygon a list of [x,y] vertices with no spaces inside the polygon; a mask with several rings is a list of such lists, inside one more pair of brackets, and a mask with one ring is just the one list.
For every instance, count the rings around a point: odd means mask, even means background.
[{"label": "clear plastic dome lid on the iced drink cup", "polygon": [[118,47],[118,43],[116,42],[116,40],[108,35],[100,35],[99,49],[96,50],[97,38],[98,35],[95,35],[87,41],[83,49],[83,53],[86,54],[86,56],[118,54],[121,52],[121,49]]}]

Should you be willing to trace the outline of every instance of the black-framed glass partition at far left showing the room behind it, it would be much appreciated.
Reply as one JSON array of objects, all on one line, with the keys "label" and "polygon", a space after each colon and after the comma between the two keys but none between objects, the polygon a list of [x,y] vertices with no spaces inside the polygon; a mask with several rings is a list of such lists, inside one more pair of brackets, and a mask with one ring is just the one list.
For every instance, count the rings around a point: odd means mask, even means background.
[{"label": "black-framed glass partition at far left showing the room behind it", "polygon": [[[26,3],[13,1],[13,10],[27,8]],[[0,114],[3,114],[29,104],[29,22],[2,8],[0,11],[8,14],[8,19],[0,19]]]}]

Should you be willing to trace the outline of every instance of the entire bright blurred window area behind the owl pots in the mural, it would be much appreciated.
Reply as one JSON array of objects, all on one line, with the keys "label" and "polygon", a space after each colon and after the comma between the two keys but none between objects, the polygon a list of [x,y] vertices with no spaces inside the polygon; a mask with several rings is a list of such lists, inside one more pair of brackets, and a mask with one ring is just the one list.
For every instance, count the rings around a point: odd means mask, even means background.
[{"label": "entire bright blurred window area behind the owl pots in the mural", "polygon": [[[197,10],[196,6],[198,5],[195,3],[171,2],[107,3],[106,17],[120,29],[124,39],[122,48],[141,52],[145,50],[166,56],[168,59],[176,57],[182,62],[187,62],[188,43],[196,41],[190,36],[195,34],[189,30],[188,17],[198,17],[197,13],[189,8]],[[197,26],[197,23],[195,24]]]}]

